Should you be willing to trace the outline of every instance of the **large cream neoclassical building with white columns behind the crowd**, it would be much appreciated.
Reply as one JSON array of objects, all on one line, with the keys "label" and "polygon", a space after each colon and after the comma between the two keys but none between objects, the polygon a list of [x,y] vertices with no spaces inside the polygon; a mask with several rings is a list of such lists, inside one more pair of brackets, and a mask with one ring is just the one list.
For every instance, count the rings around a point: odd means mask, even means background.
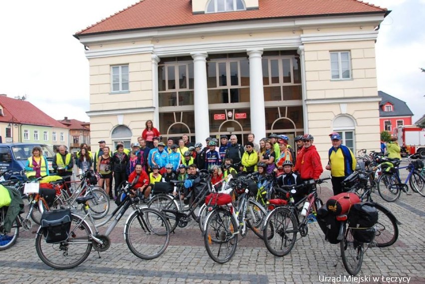
[{"label": "large cream neoclassical building with white columns behind the crowd", "polygon": [[[153,120],[192,141],[328,134],[379,148],[375,41],[385,8],[358,0],[144,0],[76,33],[90,65],[91,144]],[[291,139],[293,143],[293,139]]]}]

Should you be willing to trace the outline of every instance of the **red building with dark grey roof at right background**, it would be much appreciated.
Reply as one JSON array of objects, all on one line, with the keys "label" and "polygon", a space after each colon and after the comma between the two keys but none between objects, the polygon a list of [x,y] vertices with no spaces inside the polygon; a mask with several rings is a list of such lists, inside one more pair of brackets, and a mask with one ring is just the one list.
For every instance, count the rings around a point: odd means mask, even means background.
[{"label": "red building with dark grey roof at right background", "polygon": [[378,92],[378,96],[382,98],[379,103],[380,131],[393,133],[394,128],[412,125],[413,113],[406,102],[382,91]]}]

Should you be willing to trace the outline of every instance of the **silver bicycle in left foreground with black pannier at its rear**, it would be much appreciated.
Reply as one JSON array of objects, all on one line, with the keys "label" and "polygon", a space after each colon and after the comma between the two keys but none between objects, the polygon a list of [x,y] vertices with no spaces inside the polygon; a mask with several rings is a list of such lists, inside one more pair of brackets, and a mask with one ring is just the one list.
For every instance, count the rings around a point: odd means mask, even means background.
[{"label": "silver bicycle in left foreground with black pannier at its rear", "polygon": [[[46,243],[46,229],[40,226],[35,239],[35,249],[41,261],[55,269],[70,269],[84,262],[92,248],[98,252],[100,258],[100,252],[104,252],[110,247],[110,233],[130,207],[134,211],[128,216],[124,225],[124,239],[128,248],[135,256],[144,260],[155,259],[162,255],[170,242],[168,222],[158,210],[139,207],[140,200],[139,197],[133,197],[132,186],[133,184],[126,183],[120,189],[125,197],[108,220],[98,225],[94,223],[88,202],[93,199],[93,196],[76,198],[76,202],[82,204],[87,213],[84,217],[71,213],[71,228],[65,241],[55,244]],[[98,227],[106,224],[115,215],[116,217],[107,228],[106,233],[99,234]],[[94,227],[94,233],[86,221],[87,218]]]}]

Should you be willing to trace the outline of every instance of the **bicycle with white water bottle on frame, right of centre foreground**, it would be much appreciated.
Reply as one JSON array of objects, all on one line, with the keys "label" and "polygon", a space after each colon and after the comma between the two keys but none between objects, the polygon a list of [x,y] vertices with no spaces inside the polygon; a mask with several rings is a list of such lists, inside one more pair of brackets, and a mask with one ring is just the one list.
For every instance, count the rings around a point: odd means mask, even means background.
[{"label": "bicycle with white water bottle on frame, right of centre foreground", "polygon": [[[311,179],[300,185],[285,185],[282,187],[288,189],[290,202],[288,205],[285,205],[285,202],[283,204],[282,202],[274,204],[274,209],[267,214],[262,227],[264,244],[271,254],[283,257],[294,247],[298,232],[301,237],[307,236],[310,214],[317,212],[323,205],[322,200],[318,198],[316,184],[328,179],[330,177],[317,180]],[[292,202],[292,195],[301,188],[311,188],[312,191],[298,202]],[[306,206],[307,203],[308,206]],[[302,214],[303,218],[300,221],[298,207],[302,204],[304,204],[305,214]]]}]

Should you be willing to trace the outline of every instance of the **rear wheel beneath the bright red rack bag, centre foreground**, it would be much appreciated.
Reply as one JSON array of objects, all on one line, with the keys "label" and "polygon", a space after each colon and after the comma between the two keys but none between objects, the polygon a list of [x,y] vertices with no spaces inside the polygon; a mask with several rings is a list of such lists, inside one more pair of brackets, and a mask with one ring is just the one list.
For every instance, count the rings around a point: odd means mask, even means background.
[{"label": "rear wheel beneath the bright red rack bag, centre foreground", "polygon": [[228,210],[216,208],[205,222],[204,244],[208,255],[216,263],[228,262],[237,247],[236,220]]}]

